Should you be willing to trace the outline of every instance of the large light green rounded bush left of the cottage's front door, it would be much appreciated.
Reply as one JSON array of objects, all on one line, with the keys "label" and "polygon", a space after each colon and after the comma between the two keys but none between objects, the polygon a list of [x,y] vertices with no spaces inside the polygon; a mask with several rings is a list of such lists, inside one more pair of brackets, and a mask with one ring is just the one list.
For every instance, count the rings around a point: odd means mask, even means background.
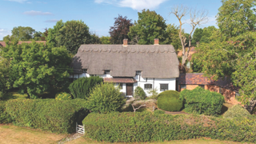
[{"label": "large light green rounded bush left of the cottage's front door", "polygon": [[102,114],[121,110],[125,97],[113,83],[101,83],[94,87],[88,98],[86,108]]}]

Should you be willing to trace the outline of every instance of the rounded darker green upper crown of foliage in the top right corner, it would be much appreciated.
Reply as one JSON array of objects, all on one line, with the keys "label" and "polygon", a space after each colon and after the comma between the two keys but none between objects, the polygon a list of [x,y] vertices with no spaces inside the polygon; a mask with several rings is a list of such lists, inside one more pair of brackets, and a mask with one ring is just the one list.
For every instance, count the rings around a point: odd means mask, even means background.
[{"label": "rounded darker green upper crown of foliage in the top right corner", "polygon": [[222,34],[238,36],[254,30],[256,24],[255,0],[222,0],[218,9],[217,21]]}]

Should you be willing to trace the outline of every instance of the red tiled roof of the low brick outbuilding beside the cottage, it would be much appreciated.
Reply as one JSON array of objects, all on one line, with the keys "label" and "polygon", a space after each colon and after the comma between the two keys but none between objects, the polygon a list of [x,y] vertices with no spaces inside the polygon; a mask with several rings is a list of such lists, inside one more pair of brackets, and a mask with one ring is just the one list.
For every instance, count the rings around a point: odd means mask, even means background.
[{"label": "red tiled roof of the low brick outbuilding beside the cottage", "polygon": [[178,83],[185,84],[185,85],[215,85],[228,90],[233,90],[233,91],[239,90],[239,87],[234,86],[230,78],[228,77],[214,81],[210,78],[204,77],[202,73],[180,74],[178,78]]}]

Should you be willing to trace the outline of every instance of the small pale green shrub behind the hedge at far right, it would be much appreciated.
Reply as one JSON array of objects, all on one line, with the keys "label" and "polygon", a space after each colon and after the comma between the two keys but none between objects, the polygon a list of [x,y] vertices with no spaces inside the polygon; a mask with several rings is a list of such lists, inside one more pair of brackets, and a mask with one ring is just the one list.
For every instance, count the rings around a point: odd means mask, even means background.
[{"label": "small pale green shrub behind the hedge at far right", "polygon": [[243,117],[250,117],[250,113],[248,110],[243,108],[240,105],[235,105],[230,107],[229,110],[223,114],[223,118],[243,118]]}]

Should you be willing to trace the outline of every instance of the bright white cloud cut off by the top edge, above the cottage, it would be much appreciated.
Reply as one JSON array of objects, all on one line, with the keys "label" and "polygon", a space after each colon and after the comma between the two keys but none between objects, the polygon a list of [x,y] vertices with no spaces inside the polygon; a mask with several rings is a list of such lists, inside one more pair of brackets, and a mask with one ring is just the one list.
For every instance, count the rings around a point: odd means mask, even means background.
[{"label": "bright white cloud cut off by the top edge, above the cottage", "polygon": [[155,9],[167,0],[94,0],[96,3],[107,3],[120,7],[130,7],[134,10]]}]

